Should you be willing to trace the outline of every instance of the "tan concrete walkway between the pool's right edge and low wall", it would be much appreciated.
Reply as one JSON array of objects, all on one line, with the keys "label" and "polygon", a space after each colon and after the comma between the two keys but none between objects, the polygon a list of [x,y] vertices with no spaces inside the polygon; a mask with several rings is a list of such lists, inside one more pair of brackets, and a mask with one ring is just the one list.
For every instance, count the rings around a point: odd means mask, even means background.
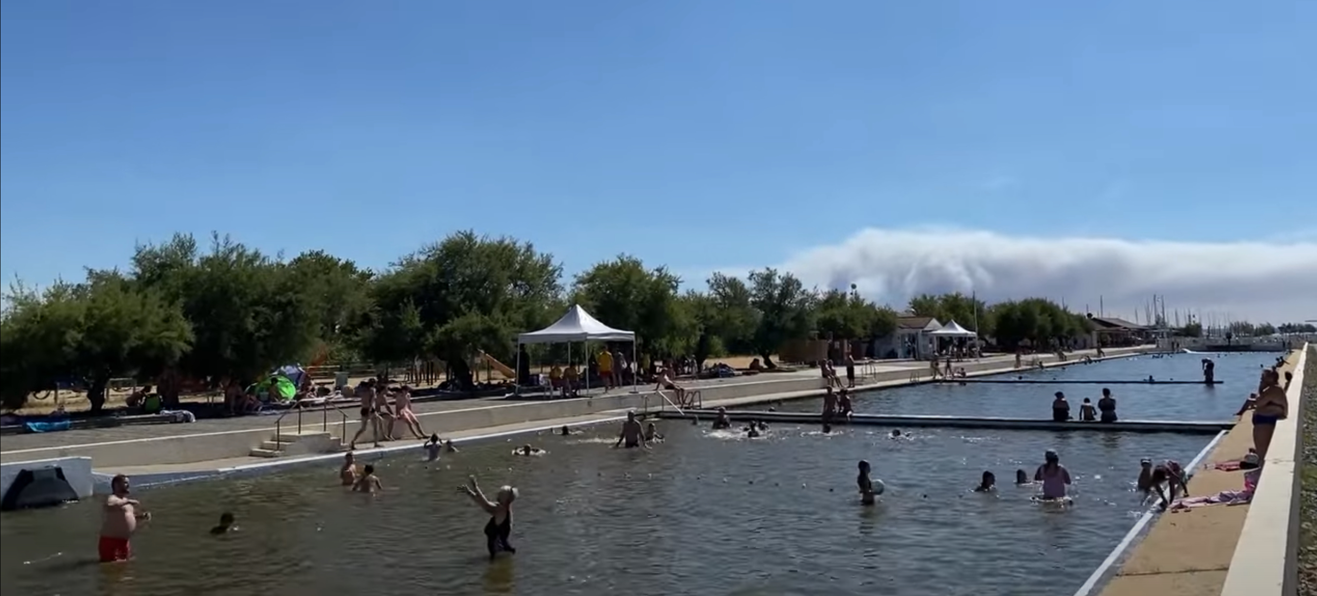
[{"label": "tan concrete walkway between the pool's right edge and low wall", "polygon": [[[1292,370],[1297,351],[1285,358],[1281,374]],[[1252,418],[1242,420],[1204,459],[1189,492],[1195,496],[1243,489],[1242,471],[1223,472],[1216,462],[1239,459],[1252,446]],[[1206,596],[1221,593],[1234,557],[1249,505],[1209,505],[1162,513],[1102,596]],[[1264,596],[1264,595],[1258,595]]]}]

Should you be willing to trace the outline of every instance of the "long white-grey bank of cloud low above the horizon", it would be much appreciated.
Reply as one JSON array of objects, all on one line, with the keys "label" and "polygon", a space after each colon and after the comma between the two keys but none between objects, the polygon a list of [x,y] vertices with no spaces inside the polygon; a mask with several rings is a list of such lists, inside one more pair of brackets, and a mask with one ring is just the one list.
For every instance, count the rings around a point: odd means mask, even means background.
[{"label": "long white-grey bank of cloud low above the horizon", "polygon": [[[810,249],[781,268],[806,284],[859,286],[901,307],[921,292],[977,292],[986,301],[1064,299],[1073,310],[1134,317],[1156,293],[1179,308],[1252,321],[1317,318],[1317,242],[1167,242],[1021,237],[928,228],[865,229]],[[740,271],[738,271],[740,272]]]}]

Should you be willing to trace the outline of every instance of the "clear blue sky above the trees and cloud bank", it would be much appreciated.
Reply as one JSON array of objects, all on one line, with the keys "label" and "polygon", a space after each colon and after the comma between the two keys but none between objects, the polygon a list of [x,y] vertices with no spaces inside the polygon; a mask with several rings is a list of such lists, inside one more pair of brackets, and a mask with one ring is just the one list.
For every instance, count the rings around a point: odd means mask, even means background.
[{"label": "clear blue sky above the trees and cloud bank", "polygon": [[[454,229],[698,272],[865,228],[1310,234],[1317,3],[12,0],[0,270]],[[1310,237],[1310,236],[1309,236]]]}]

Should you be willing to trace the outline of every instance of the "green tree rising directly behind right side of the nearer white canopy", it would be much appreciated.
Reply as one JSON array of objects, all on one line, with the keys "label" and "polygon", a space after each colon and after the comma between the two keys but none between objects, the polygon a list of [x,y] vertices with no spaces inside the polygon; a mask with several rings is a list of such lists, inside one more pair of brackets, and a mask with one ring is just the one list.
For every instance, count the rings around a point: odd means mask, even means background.
[{"label": "green tree rising directly behind right side of the nearer white canopy", "polygon": [[697,321],[677,293],[681,279],[666,267],[647,268],[630,255],[597,263],[576,276],[573,296],[599,321],[635,332],[639,349],[653,357],[694,347]]}]

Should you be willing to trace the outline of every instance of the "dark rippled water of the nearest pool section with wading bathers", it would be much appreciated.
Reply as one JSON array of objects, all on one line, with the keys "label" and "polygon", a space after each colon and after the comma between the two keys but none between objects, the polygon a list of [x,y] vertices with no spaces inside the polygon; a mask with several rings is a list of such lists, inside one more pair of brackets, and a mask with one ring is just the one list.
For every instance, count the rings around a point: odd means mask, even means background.
[{"label": "dark rippled water of the nearest pool section with wading bathers", "polygon": [[[348,493],[336,466],[141,491],[155,520],[137,560],[92,563],[99,509],[5,513],[0,589],[34,595],[1058,595],[1071,593],[1142,513],[1141,457],[1188,462],[1202,435],[888,429],[769,437],[658,422],[652,451],[608,449],[615,428],[473,446],[439,464],[377,462],[385,493]],[[548,455],[511,455],[531,442]],[[1058,449],[1076,504],[1048,510],[1010,485]],[[857,504],[856,460],[886,483]],[[973,493],[984,470],[1005,483]],[[456,492],[512,483],[519,553],[487,563],[486,517]],[[212,538],[224,510],[241,530]],[[22,545],[21,547],[16,547]]]}]

